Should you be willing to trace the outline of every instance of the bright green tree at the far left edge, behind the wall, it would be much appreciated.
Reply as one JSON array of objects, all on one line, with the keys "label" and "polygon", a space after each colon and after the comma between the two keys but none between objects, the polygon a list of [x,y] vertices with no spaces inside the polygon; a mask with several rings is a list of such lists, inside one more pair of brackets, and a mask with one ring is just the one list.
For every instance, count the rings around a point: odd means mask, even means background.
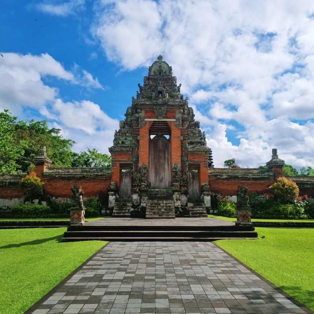
[{"label": "bright green tree at the far left edge, behind the wall", "polygon": [[6,109],[0,112],[0,174],[16,173],[19,170],[18,160],[27,145],[26,140],[14,138],[16,119]]}]

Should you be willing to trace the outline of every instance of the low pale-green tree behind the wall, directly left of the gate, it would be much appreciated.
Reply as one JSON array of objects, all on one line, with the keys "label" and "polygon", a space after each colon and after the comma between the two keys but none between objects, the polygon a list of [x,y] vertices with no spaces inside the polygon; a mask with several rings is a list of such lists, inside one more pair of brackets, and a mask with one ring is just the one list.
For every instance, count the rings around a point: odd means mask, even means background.
[{"label": "low pale-green tree behind the wall, directly left of the gate", "polygon": [[97,149],[87,149],[79,154],[73,153],[72,167],[99,167],[110,168],[111,157],[108,154],[99,153]]}]

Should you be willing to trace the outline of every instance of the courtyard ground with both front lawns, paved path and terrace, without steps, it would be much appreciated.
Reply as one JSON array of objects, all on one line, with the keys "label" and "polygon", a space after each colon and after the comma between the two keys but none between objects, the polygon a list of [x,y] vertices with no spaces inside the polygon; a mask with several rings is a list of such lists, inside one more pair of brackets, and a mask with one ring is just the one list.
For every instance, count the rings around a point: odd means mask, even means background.
[{"label": "courtyard ground with both front lawns, paved path and terrace, without steps", "polygon": [[[123,228],[132,225],[167,234],[167,228],[232,228],[235,223],[102,218],[83,228],[113,225],[115,231],[128,232]],[[6,276],[0,279],[5,306],[0,312],[312,313],[308,248],[314,229],[256,231],[254,240],[63,242],[66,228],[1,230],[0,272]]]}]

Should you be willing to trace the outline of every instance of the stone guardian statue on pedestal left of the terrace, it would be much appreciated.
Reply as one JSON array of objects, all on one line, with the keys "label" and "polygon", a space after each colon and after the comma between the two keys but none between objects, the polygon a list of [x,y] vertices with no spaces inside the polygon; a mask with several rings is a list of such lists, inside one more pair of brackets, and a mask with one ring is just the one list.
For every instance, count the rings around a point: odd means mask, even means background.
[{"label": "stone guardian statue on pedestal left of the terrace", "polygon": [[70,225],[82,226],[85,223],[84,191],[80,185],[71,187],[75,207],[70,208]]}]

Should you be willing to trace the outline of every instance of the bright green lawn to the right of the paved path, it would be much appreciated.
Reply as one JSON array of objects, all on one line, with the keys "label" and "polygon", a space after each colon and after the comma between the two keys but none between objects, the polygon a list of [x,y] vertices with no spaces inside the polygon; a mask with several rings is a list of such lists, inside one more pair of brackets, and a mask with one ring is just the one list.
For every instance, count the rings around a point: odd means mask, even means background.
[{"label": "bright green lawn to the right of the paved path", "polygon": [[314,310],[314,229],[255,230],[259,235],[257,240],[219,240],[215,243]]}]

